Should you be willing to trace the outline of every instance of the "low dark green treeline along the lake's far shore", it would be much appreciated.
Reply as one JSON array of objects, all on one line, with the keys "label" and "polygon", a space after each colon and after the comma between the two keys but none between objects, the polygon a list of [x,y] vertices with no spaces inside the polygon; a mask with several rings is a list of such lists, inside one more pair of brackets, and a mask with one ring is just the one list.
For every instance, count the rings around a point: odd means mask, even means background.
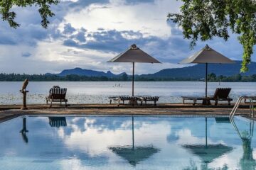
[{"label": "low dark green treeline along the lake's far shore", "polygon": [[[122,74],[119,77],[87,77],[70,74],[65,77],[60,77],[54,74],[0,74],[0,81],[131,81],[132,77],[127,74]],[[135,81],[203,81],[203,79],[193,78],[163,78],[163,77],[141,77],[136,76]],[[225,81],[225,82],[256,82],[256,74],[251,76],[242,76],[236,74],[231,77],[216,76],[214,73],[208,74],[208,81]]]}]

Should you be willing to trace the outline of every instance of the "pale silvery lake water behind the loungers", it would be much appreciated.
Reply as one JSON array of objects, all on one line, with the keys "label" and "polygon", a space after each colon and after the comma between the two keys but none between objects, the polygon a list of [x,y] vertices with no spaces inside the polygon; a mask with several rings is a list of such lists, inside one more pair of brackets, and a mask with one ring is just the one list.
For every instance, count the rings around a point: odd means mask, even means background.
[{"label": "pale silvery lake water behind the loungers", "polygon": [[[28,103],[45,103],[49,89],[58,85],[68,88],[68,103],[109,103],[108,96],[131,95],[132,82],[90,81],[90,82],[30,82]],[[19,104],[22,82],[0,82],[0,104]],[[210,82],[208,94],[213,95],[217,87],[231,87],[231,98],[242,95],[256,96],[256,83],[250,82]],[[159,103],[181,103],[180,96],[203,96],[205,83],[201,81],[139,81],[134,84],[135,95],[160,96]]]}]

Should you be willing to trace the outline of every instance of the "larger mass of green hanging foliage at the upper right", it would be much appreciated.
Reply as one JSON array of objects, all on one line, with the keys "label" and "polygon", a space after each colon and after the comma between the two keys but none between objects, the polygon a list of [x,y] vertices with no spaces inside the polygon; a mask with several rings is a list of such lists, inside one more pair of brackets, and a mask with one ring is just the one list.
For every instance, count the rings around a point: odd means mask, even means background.
[{"label": "larger mass of green hanging foliage at the upper right", "polygon": [[242,44],[241,72],[247,72],[253,46],[256,44],[255,0],[181,0],[181,13],[169,13],[168,19],[183,29],[183,36],[191,39],[191,48],[200,38],[229,38],[229,32],[238,34]]}]

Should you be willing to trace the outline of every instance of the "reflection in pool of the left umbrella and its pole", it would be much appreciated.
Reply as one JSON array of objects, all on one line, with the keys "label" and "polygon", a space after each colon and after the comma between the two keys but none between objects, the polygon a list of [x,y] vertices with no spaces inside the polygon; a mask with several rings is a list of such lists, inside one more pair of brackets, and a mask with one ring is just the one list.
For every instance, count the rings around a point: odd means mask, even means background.
[{"label": "reflection in pool of the left umbrella and its pole", "polygon": [[127,160],[132,166],[136,166],[139,162],[151,157],[151,155],[159,152],[153,146],[134,147],[134,117],[132,116],[132,146],[110,147],[115,154]]}]

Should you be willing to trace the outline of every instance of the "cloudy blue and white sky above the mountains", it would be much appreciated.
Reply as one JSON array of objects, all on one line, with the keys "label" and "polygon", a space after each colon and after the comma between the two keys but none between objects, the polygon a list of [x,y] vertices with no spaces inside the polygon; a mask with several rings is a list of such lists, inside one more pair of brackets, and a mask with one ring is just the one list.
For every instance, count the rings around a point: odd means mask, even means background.
[{"label": "cloudy blue and white sky above the mountains", "polygon": [[206,43],[232,60],[242,59],[237,35],[230,35],[228,42],[198,41],[191,50],[181,28],[166,21],[167,14],[178,13],[180,6],[179,0],[60,1],[52,6],[55,16],[49,18],[47,30],[41,26],[38,7],[14,6],[21,26],[14,29],[0,21],[0,72],[45,74],[80,67],[129,74],[132,64],[107,61],[134,43],[162,62],[136,64],[136,74],[184,67],[178,62]]}]

